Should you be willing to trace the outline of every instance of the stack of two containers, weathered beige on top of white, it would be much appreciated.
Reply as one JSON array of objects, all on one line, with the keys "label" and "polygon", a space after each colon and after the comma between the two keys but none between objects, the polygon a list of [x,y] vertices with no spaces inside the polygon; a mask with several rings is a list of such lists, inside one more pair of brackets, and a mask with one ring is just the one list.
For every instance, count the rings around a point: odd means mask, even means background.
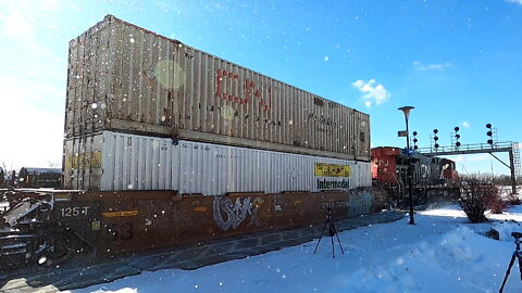
[{"label": "stack of two containers, weathered beige on top of white", "polygon": [[371,184],[366,114],[112,15],[70,43],[65,135],[65,188]]}]

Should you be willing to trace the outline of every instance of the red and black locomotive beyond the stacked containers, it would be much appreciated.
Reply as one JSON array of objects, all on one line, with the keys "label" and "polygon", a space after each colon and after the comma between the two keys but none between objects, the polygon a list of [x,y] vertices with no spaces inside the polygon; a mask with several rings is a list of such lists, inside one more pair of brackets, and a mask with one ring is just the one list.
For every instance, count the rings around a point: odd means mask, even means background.
[{"label": "red and black locomotive beyond the stacked containers", "polygon": [[[408,160],[412,164],[414,201],[425,203],[430,196],[458,193],[458,173],[455,162],[448,158],[426,156],[406,149],[380,146],[372,149],[372,180],[374,186],[385,188],[399,205],[407,199]],[[442,194],[440,194],[442,193]]]}]

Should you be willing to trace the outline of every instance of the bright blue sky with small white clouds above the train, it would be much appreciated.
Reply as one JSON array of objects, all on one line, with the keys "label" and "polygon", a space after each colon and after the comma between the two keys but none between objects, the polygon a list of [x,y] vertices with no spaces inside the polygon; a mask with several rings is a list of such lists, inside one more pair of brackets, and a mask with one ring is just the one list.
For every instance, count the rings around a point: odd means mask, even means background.
[{"label": "bright blue sky with small white clouds above the train", "polygon": [[69,41],[105,14],[365,112],[373,146],[406,144],[402,105],[421,146],[522,141],[522,0],[0,0],[0,164],[61,165]]}]

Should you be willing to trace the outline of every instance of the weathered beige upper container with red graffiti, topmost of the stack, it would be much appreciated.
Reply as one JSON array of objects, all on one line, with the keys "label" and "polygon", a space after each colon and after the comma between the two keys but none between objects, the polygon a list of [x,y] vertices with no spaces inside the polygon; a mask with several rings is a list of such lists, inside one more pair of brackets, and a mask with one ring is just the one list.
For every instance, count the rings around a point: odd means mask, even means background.
[{"label": "weathered beige upper container with red graffiti, topmost of the stack", "polygon": [[366,114],[114,16],[70,43],[67,138],[114,130],[370,161]]}]

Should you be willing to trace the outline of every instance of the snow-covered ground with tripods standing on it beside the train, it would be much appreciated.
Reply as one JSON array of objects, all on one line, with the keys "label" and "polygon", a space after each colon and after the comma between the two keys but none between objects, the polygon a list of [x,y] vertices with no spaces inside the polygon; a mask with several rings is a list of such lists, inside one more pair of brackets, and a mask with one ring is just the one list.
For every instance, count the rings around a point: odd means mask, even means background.
[{"label": "snow-covered ground with tripods standing on it beside the train", "polygon": [[[403,220],[339,233],[345,254],[330,238],[240,260],[186,271],[144,272],[74,292],[498,292],[522,232],[522,206],[471,225],[457,206],[432,207]],[[515,220],[515,221],[512,221]],[[500,241],[484,233],[495,228]],[[522,292],[519,267],[505,292]]]}]

